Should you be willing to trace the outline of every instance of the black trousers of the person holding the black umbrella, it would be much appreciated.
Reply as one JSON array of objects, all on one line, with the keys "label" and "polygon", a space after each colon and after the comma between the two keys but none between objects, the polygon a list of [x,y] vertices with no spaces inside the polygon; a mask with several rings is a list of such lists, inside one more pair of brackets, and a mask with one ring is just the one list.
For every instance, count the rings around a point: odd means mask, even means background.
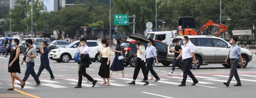
[{"label": "black trousers of the person holding the black umbrella", "polygon": [[144,60],[141,60],[140,58],[137,58],[136,66],[134,68],[133,80],[137,79],[138,74],[140,72],[140,68],[142,70],[144,79],[145,79],[145,77],[148,77],[148,76],[146,76],[146,63],[144,62]]}]

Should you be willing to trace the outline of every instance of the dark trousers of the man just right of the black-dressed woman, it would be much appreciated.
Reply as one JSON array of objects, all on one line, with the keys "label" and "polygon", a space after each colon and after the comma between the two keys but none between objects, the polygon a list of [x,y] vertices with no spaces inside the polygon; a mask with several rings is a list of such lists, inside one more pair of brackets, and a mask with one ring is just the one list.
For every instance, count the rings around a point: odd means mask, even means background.
[{"label": "dark trousers of the man just right of the black-dressed woman", "polygon": [[34,66],[35,66],[34,62],[28,62],[27,63],[27,69],[26,69],[25,76],[22,79],[22,81],[26,82],[26,80],[28,79],[29,75],[31,74],[31,76],[33,76],[34,80],[36,81],[36,84],[40,83],[40,80],[39,80],[39,78],[36,75],[36,72],[34,70]]}]

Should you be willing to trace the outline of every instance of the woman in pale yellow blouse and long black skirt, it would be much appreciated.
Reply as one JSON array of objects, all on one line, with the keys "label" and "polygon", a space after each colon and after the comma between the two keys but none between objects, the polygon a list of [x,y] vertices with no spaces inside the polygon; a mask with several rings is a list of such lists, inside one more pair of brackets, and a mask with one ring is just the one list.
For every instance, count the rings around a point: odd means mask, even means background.
[{"label": "woman in pale yellow blouse and long black skirt", "polygon": [[[100,53],[101,55],[101,65],[100,65],[100,70],[98,72],[99,76],[102,77],[103,79],[103,83],[102,83],[102,86],[110,86],[109,84],[109,74],[110,74],[110,71],[109,71],[109,66],[110,66],[110,48],[108,47],[108,42],[107,40],[102,40],[101,41],[101,44],[102,44],[102,50],[98,50],[98,52]],[[107,78],[107,82],[105,80],[105,78]]]}]

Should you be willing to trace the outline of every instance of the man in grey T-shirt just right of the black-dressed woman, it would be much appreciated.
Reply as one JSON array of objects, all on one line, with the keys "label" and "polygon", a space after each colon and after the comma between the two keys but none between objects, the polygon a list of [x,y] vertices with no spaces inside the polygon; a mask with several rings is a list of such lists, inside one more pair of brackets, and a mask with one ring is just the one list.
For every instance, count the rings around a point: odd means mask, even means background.
[{"label": "man in grey T-shirt just right of the black-dressed woman", "polygon": [[39,80],[39,78],[36,75],[36,72],[34,70],[34,66],[35,66],[34,58],[36,58],[36,50],[35,50],[35,48],[33,48],[32,44],[33,44],[33,42],[32,42],[31,39],[26,40],[26,46],[27,46],[26,54],[24,54],[25,57],[23,58],[21,64],[26,62],[27,63],[27,68],[26,68],[25,76],[22,79],[24,84],[23,85],[18,84],[18,85],[23,86],[23,87],[25,86],[25,82],[28,79],[30,74],[31,74],[31,76],[33,76],[34,80],[36,81],[36,85],[34,85],[34,86],[41,85],[40,80]]}]

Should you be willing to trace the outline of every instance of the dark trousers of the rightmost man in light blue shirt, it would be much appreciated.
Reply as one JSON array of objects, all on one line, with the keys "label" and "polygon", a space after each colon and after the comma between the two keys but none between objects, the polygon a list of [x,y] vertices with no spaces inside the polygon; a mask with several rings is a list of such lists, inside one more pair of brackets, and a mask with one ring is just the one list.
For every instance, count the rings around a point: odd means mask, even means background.
[{"label": "dark trousers of the rightmost man in light blue shirt", "polygon": [[228,78],[228,83],[231,82],[233,76],[235,76],[238,84],[241,83],[240,78],[237,73],[237,70],[236,70],[236,66],[238,65],[238,63],[239,63],[239,59],[232,59],[232,58],[230,59],[231,69],[230,69],[230,74],[229,74],[229,78]]}]

